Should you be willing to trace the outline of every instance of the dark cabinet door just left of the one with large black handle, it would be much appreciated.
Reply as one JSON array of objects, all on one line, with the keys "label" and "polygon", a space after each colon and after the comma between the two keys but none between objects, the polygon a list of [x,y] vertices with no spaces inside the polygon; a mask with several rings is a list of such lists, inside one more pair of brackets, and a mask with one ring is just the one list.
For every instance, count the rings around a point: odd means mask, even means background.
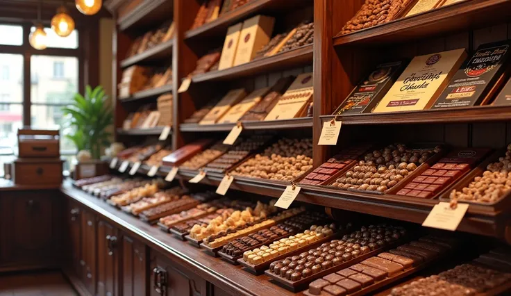
[{"label": "dark cabinet door just left of the one with large black handle", "polygon": [[147,294],[146,246],[133,238],[122,236],[122,295]]}]

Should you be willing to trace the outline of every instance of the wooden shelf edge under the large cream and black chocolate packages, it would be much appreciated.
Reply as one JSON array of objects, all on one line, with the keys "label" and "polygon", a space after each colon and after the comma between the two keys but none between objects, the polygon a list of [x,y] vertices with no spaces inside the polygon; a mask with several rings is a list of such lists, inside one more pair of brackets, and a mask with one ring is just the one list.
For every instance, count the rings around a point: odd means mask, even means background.
[{"label": "wooden shelf edge under the large cream and black chocolate packages", "polygon": [[[329,121],[333,115],[321,116],[321,121]],[[426,124],[462,122],[504,122],[511,118],[511,107],[477,106],[440,110],[419,110],[393,113],[367,113],[341,115],[337,120],[342,124]]]}]

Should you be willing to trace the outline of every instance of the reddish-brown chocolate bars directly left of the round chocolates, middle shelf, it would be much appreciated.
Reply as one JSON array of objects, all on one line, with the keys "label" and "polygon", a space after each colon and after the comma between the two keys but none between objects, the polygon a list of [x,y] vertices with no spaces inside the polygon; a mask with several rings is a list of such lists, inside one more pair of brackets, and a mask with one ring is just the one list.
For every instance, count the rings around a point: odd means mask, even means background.
[{"label": "reddish-brown chocolate bars directly left of the round chocolates, middle shelf", "polygon": [[367,149],[369,149],[369,145],[343,149],[340,154],[328,159],[326,163],[320,165],[310,174],[305,176],[300,183],[319,185],[328,182],[332,176],[357,161],[357,159],[362,156]]}]

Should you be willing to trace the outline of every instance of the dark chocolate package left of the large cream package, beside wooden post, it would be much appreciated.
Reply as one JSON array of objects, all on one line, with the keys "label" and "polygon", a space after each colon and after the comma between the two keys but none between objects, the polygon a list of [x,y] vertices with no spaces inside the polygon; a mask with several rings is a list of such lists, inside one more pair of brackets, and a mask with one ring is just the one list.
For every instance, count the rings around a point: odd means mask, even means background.
[{"label": "dark chocolate package left of the large cream package, beside wooden post", "polygon": [[398,61],[376,66],[376,69],[353,89],[333,114],[370,113],[396,82],[403,65],[402,61]]}]

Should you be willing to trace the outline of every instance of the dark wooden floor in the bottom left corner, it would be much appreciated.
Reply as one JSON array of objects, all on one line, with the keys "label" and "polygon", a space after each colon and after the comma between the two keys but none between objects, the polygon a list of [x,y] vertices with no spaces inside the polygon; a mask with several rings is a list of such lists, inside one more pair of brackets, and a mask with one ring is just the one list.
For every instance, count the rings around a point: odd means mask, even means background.
[{"label": "dark wooden floor in the bottom left corner", "polygon": [[0,275],[0,296],[76,296],[71,284],[57,271]]}]

